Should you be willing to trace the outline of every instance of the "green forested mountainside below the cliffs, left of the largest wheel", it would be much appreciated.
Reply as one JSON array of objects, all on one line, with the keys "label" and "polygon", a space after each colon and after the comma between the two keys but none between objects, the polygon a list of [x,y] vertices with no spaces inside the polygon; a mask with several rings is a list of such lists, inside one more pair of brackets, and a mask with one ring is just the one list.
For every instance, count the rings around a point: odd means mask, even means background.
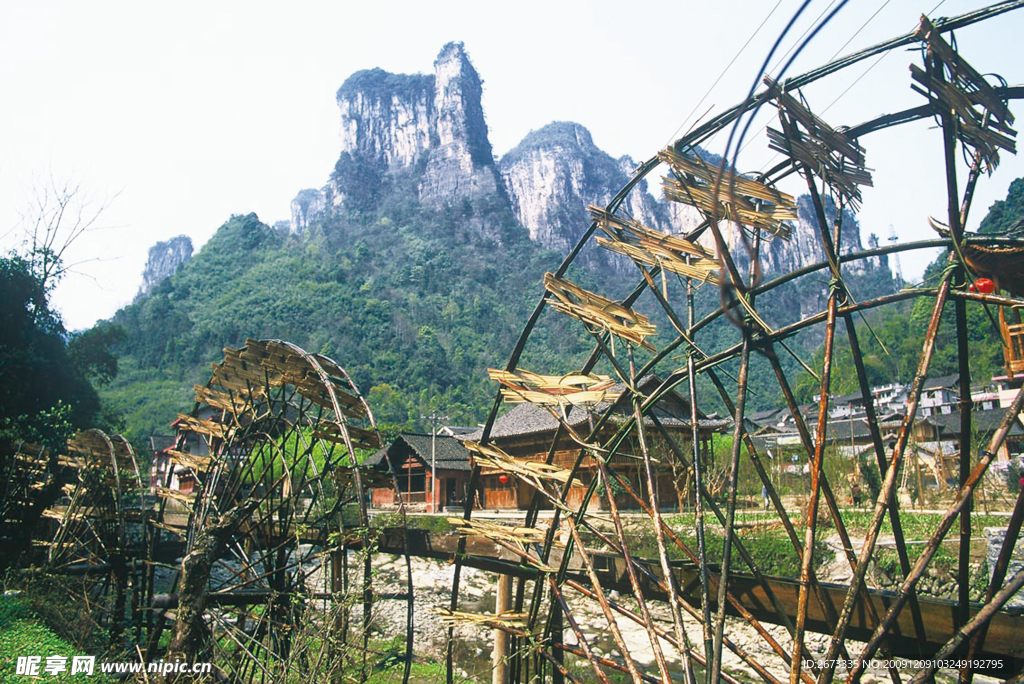
[{"label": "green forested mountainside below the cliffs, left of the largest wheel", "polygon": [[[433,408],[451,423],[482,420],[493,398],[485,369],[505,362],[543,273],[562,255],[531,243],[504,207],[427,209],[400,180],[377,207],[301,236],[234,216],[177,274],[120,311],[121,374],[103,397],[128,434],[138,442],[166,433],[222,347],[248,337],[337,359],[385,427],[422,425]],[[558,338],[552,353],[579,356],[585,333],[571,323],[541,331]]]}]

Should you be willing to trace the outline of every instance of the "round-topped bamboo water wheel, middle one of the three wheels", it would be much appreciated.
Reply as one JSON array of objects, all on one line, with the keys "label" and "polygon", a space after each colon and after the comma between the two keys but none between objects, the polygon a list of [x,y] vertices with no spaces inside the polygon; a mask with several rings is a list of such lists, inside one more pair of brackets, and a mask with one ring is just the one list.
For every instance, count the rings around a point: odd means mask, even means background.
[{"label": "round-topped bamboo water wheel, middle one of the three wheels", "polygon": [[[411,591],[375,594],[359,463],[381,439],[345,371],[249,340],[225,349],[196,401],[169,452],[195,488],[167,486],[169,471],[158,490],[151,557],[172,574],[152,579],[147,659],[214,662],[228,681],[323,681],[365,678],[394,637],[412,648]],[[178,557],[160,558],[176,541]],[[404,625],[379,618],[385,600],[406,603]]]}]

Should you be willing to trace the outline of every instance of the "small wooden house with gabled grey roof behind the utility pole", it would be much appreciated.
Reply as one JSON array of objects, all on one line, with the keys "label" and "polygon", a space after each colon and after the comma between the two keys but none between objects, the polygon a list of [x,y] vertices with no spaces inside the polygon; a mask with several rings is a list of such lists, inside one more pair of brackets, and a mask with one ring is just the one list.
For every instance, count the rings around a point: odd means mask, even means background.
[{"label": "small wooden house with gabled grey roof behind the utility pole", "polygon": [[397,474],[398,494],[392,486],[373,488],[374,507],[407,504],[425,506],[435,512],[445,506],[460,506],[466,496],[472,460],[458,439],[446,434],[401,433],[369,459],[365,465],[373,468],[382,479],[389,481],[390,461]]}]

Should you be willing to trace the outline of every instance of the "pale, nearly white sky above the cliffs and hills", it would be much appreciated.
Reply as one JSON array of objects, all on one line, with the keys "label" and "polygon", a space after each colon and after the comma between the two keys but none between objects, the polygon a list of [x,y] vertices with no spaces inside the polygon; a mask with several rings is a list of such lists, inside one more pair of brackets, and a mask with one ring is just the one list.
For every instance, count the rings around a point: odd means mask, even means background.
[{"label": "pale, nearly white sky above the cliffs and hills", "polygon": [[[465,43],[484,80],[496,154],[566,120],[589,128],[612,156],[647,158],[769,17],[699,111],[741,99],[799,6],[782,0],[771,13],[776,1],[0,0],[0,248],[16,245],[18,210],[46,174],[75,176],[93,199],[112,198],[104,229],[72,256],[101,260],[83,264],[55,296],[71,328],[110,316],[137,291],[157,241],[185,233],[199,248],[231,214],[285,219],[299,189],[326,182],[339,152],[335,92],[351,73],[429,73],[451,40]],[[985,4],[854,0],[790,73],[904,33],[923,12],[955,15]],[[783,52],[828,6],[811,4]],[[959,32],[957,41],[979,71],[1021,84],[1021,35],[1024,11],[1016,11]],[[834,125],[912,106],[922,101],[910,90],[916,58],[890,54],[827,111],[873,59],[805,95]],[[763,134],[755,137],[741,170],[771,159]],[[885,238],[892,224],[904,240],[930,236],[927,215],[941,217],[945,207],[939,132],[922,122],[862,142],[878,186],[864,191],[865,234]],[[709,146],[720,151],[724,137]],[[978,194],[975,222],[1019,176],[1022,161],[1005,156]],[[904,273],[920,275],[928,260],[904,257]]]}]

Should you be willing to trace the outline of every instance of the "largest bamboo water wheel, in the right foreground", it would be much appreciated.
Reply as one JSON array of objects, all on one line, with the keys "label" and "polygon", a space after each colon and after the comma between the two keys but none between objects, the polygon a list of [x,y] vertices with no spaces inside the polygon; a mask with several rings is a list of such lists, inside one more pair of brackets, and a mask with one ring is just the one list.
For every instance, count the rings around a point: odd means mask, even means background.
[{"label": "largest bamboo water wheel, in the right foreground", "polygon": [[[984,171],[995,167],[1000,154],[1015,152],[1014,117],[1008,102],[1022,91],[980,76],[949,40],[951,30],[1020,4],[1001,3],[934,24],[923,18],[920,28],[907,35],[802,76],[766,80],[751,97],[706,119],[641,164],[606,207],[592,209],[593,222],[580,244],[546,279],[546,291],[506,368],[493,373],[502,390],[479,444],[472,446],[477,463],[471,488],[479,486],[481,473],[502,472],[528,487],[532,504],[525,526],[513,529],[476,523],[474,498],[467,497],[461,531],[517,556],[504,570],[517,580],[507,614],[467,615],[459,612],[457,570],[446,618],[452,623],[485,621],[506,633],[511,642],[510,681],[607,682],[612,677],[635,682],[858,681],[867,662],[889,656],[921,658],[925,664],[912,671],[896,667],[872,671],[888,674],[893,682],[906,677],[927,681],[940,662],[955,664],[955,657],[968,662],[969,655],[998,658],[1001,669],[988,668],[998,676],[1020,673],[1024,650],[1019,635],[1024,628],[1020,616],[1008,612],[1004,604],[1024,585],[1024,573],[1010,579],[1006,564],[1024,515],[1024,498],[1013,509],[1011,532],[991,568],[994,576],[989,590],[980,601],[972,601],[968,588],[972,507],[993,455],[1018,423],[1024,394],[1017,394],[1000,424],[984,440],[973,436],[968,364],[973,349],[966,311],[968,307],[985,306],[992,311],[1019,307],[1024,301],[1017,294],[1004,296],[971,288],[980,273],[972,272],[958,247],[965,239],[964,221],[975,185]],[[905,46],[920,48],[911,66],[912,80],[907,83],[923,95],[920,106],[858,125],[841,121],[845,125],[841,127],[815,115],[802,96],[804,86],[871,55]],[[777,110],[777,120],[767,128],[762,143],[778,152],[781,161],[762,173],[740,174],[734,171],[742,164],[735,151],[749,142],[743,126],[764,106]],[[860,187],[871,183],[865,153],[870,134],[922,119],[934,120],[943,132],[949,197],[941,221],[948,226],[948,236],[851,252],[843,247],[848,243],[843,241],[842,217],[844,209],[860,202]],[[729,139],[724,149],[717,151],[723,157],[718,165],[705,161],[697,145],[708,145],[720,131],[732,133],[718,138]],[[627,214],[631,190],[654,173],[664,178],[670,201],[698,215],[692,230],[668,234]],[[802,178],[806,185],[801,191],[811,198],[810,212],[820,226],[816,249],[823,258],[800,272],[763,280],[768,243],[784,249],[797,218],[793,195],[779,189],[780,181],[788,176]],[[978,245],[986,240],[1017,250],[1024,247],[1020,237],[974,237],[972,242]],[[638,272],[632,293],[589,292],[567,277],[580,254],[592,249],[591,245],[632,260]],[[937,286],[862,297],[851,285],[851,269],[870,259],[900,249],[936,246],[953,248],[949,268]],[[792,281],[808,273],[827,282],[821,307],[805,311],[798,320],[776,319],[773,299]],[[694,296],[699,288],[715,288],[720,295],[710,305],[707,298],[700,304]],[[868,502],[866,532],[854,541],[847,524],[852,514],[841,501],[845,483],[829,481],[826,473],[827,461],[837,458],[826,450],[825,438],[835,393],[834,348],[838,335],[846,337],[852,352],[850,370],[861,394],[870,397],[863,349],[871,333],[860,314],[907,298],[930,302],[931,325],[904,415],[893,426],[891,437],[884,435],[881,417],[872,402],[866,401],[866,453],[881,474],[881,494]],[[907,513],[896,496],[897,487],[905,473],[911,427],[930,374],[936,329],[943,312],[949,310],[958,340],[955,384],[964,397],[955,495],[942,504],[928,539],[908,551],[903,532]],[[529,367],[531,345],[541,344],[532,335],[539,322],[566,315],[591,335],[592,353],[571,369]],[[732,324],[731,334],[722,334],[721,328],[715,334],[709,332],[716,322],[726,319]],[[823,361],[815,367],[802,357],[810,354],[793,344],[793,338],[803,334],[816,336],[824,350]],[[806,466],[808,487],[801,510],[783,502],[774,475],[777,464],[745,427],[748,379],[755,369],[774,378],[777,397],[796,426],[795,445],[799,463]],[[798,405],[794,394],[796,376],[803,370],[813,373],[819,390],[820,398],[810,414]],[[597,395],[591,391],[610,385],[616,385],[620,392],[613,401],[601,391]],[[578,392],[583,394],[573,399]],[[689,415],[670,426],[655,409],[672,393],[686,401]],[[541,460],[547,454],[546,466],[523,466],[520,459],[503,453],[500,440],[492,437],[499,409],[510,399],[532,403],[557,423],[550,446],[536,450]],[[573,414],[582,411],[590,411],[593,420],[575,420]],[[731,454],[719,464],[725,477],[717,491],[711,490],[710,463],[698,435],[701,421],[713,411],[724,411],[731,418],[734,437]],[[656,470],[669,462],[688,473],[696,493],[690,528],[673,527],[663,512],[676,505],[666,501],[655,482]],[[632,465],[623,465],[627,463]],[[633,474],[625,477],[625,472]],[[767,576],[746,538],[739,533],[740,473],[754,473],[758,486],[763,487],[772,512],[768,522],[783,530],[799,568],[795,576]],[[639,543],[638,523],[624,523],[624,506],[640,514],[654,540],[654,551],[646,558],[638,559],[631,551]],[[539,518],[542,508],[553,510],[553,523]],[[829,535],[838,535],[837,553],[846,557],[851,568],[850,576],[840,585],[824,585],[817,576],[825,525]],[[895,593],[870,589],[866,582],[880,553],[883,526],[898,554]],[[919,593],[922,579],[936,570],[936,553],[943,541],[952,541],[959,549],[949,569],[959,587],[952,601]],[[470,559],[457,556],[457,567],[463,562]],[[739,642],[737,619],[754,634],[757,648],[749,640]],[[627,626],[639,626],[641,644],[624,637]],[[641,650],[645,652],[642,661]],[[820,665],[837,658],[850,661],[850,667]],[[953,665],[953,676],[957,667]],[[966,665],[962,681],[985,669]]]}]

